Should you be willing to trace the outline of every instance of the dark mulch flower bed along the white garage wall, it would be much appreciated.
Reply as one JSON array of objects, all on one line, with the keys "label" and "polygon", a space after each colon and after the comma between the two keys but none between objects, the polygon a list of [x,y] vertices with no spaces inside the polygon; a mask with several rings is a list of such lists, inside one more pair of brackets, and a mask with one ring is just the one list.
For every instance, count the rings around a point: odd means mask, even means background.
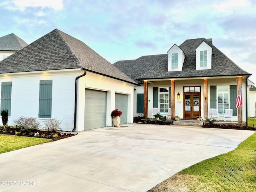
[{"label": "dark mulch flower bed along the white garage wall", "polygon": [[[35,136],[35,133],[38,133],[37,136]],[[74,136],[74,135],[78,134],[78,132],[49,131],[46,129],[22,130],[19,127],[18,128],[7,127],[6,129],[4,129],[4,127],[0,127],[0,134],[46,138],[46,139],[52,139],[52,140],[56,141],[56,140]]]}]

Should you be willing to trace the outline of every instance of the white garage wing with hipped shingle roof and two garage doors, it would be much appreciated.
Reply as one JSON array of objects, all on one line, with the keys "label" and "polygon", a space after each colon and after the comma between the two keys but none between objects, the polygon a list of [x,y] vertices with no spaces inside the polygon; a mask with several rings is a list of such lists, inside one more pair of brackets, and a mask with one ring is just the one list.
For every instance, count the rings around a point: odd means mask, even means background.
[{"label": "white garage wing with hipped shingle roof and two garage doors", "polygon": [[26,116],[61,120],[62,130],[133,122],[134,80],[82,41],[55,29],[0,62],[1,110],[8,123]]}]

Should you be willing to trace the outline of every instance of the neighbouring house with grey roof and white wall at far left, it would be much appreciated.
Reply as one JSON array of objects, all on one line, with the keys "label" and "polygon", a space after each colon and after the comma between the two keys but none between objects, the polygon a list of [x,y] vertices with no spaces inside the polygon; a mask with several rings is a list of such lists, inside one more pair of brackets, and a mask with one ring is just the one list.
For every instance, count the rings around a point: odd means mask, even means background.
[{"label": "neighbouring house with grey roof and white wall at far left", "polygon": [[24,40],[13,33],[0,37],[0,61],[27,45]]}]

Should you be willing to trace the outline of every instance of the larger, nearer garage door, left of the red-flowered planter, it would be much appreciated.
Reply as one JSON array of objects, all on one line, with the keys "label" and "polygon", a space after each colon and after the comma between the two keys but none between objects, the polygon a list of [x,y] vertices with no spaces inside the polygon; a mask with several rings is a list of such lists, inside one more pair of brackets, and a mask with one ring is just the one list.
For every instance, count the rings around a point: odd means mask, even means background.
[{"label": "larger, nearer garage door, left of the red-flowered planter", "polygon": [[107,93],[85,89],[84,130],[106,127]]}]

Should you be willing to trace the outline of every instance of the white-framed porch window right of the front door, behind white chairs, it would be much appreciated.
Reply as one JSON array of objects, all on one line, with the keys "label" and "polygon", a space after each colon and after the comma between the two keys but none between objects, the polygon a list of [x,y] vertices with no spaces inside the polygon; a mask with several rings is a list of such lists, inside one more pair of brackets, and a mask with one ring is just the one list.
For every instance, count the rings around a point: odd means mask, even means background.
[{"label": "white-framed porch window right of the front door, behind white chairs", "polygon": [[225,109],[229,109],[229,86],[217,86],[218,113],[223,115]]}]

